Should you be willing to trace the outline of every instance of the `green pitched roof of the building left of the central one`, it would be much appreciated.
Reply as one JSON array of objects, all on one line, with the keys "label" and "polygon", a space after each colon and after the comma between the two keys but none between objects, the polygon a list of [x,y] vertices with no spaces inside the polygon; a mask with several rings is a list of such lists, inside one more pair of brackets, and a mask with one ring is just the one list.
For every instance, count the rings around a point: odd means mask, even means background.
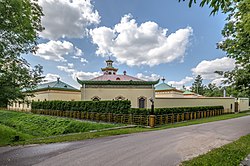
[{"label": "green pitched roof of the building left of the central one", "polygon": [[60,81],[59,79],[57,81],[39,84],[32,91],[41,91],[41,90],[80,91],[63,81]]}]

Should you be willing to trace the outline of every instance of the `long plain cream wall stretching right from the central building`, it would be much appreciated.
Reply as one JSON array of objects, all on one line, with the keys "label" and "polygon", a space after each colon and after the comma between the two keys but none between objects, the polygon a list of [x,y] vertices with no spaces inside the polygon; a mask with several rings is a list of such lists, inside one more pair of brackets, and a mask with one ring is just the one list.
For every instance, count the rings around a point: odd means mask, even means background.
[{"label": "long plain cream wall stretching right from the central building", "polygon": [[226,112],[234,112],[234,101],[230,97],[155,98],[155,108],[223,106]]}]

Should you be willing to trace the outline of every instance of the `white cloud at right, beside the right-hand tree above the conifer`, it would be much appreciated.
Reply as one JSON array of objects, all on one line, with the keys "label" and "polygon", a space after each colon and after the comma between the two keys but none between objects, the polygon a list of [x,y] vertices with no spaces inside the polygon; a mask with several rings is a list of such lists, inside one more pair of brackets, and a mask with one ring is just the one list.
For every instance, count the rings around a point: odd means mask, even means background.
[{"label": "white cloud at right, beside the right-hand tree above the conifer", "polygon": [[200,62],[192,69],[193,75],[201,75],[203,79],[214,80],[222,78],[215,71],[231,71],[235,67],[235,60],[227,57],[217,58],[215,60]]}]

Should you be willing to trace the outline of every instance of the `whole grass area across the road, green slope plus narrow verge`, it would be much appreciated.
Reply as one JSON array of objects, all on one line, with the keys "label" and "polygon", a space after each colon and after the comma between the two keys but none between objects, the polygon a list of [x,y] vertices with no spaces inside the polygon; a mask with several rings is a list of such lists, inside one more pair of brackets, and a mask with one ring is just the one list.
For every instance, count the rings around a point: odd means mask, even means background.
[{"label": "whole grass area across the road, green slope plus narrow verge", "polygon": [[[249,112],[191,120],[176,124],[163,125],[156,128],[135,127],[108,131],[89,132],[91,130],[100,130],[121,125],[82,122],[68,118],[57,118],[52,116],[42,116],[12,111],[0,111],[0,146],[8,144],[18,145],[34,143],[54,143],[92,139],[112,135],[131,134],[137,132],[162,130],[167,128],[208,123],[247,115],[249,115]],[[20,136],[20,141],[15,141],[14,139],[14,136],[17,134],[19,134]],[[10,135],[8,136],[8,139],[7,135]],[[4,139],[2,141],[1,138],[3,137]]]}]

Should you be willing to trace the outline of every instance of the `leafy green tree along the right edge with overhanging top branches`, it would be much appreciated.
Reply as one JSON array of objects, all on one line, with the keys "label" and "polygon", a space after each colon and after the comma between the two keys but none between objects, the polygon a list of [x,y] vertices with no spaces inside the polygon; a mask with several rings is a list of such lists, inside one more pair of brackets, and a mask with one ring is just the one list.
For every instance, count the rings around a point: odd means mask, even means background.
[{"label": "leafy green tree along the right edge with overhanging top branches", "polygon": [[[193,3],[196,0],[189,0],[190,7]],[[228,78],[225,83],[231,84],[240,95],[250,97],[250,0],[202,0],[200,6],[205,4],[213,8],[211,14],[221,9],[228,15],[222,30],[224,40],[217,46],[234,58],[237,66],[225,73]]]}]

